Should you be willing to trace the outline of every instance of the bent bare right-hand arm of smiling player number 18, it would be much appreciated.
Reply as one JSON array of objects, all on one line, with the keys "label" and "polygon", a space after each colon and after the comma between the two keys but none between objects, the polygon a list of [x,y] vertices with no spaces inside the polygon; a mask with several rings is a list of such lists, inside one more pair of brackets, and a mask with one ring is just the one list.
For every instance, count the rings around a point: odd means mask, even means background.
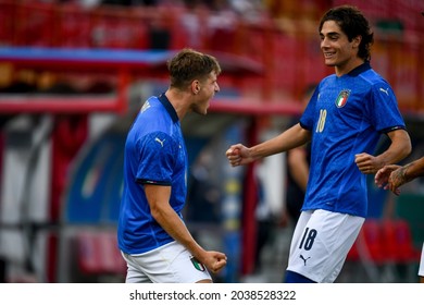
[{"label": "bent bare right-hand arm of smiling player number 18", "polygon": [[384,166],[397,163],[411,154],[411,139],[407,131],[396,130],[387,135],[391,144],[383,154],[376,157],[365,152],[356,155],[354,161],[361,172],[376,173]]}]

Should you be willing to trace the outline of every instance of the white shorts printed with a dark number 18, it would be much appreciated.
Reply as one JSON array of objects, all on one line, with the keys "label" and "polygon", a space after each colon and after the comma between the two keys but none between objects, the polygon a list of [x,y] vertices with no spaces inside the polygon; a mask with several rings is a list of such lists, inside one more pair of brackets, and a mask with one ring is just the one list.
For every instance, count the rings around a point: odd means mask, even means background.
[{"label": "white shorts printed with a dark number 18", "polygon": [[364,221],[322,209],[302,211],[291,239],[287,270],[319,283],[334,282]]}]

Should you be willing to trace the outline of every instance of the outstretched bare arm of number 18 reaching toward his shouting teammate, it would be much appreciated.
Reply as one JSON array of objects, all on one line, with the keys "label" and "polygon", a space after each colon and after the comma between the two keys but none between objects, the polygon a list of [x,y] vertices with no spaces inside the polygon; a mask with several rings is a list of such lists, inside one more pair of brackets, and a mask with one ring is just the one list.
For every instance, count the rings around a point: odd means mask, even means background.
[{"label": "outstretched bare arm of number 18 reaching toward his shouting teammate", "polygon": [[311,133],[296,124],[282,134],[250,148],[242,144],[232,145],[225,152],[233,167],[250,163],[271,155],[287,151],[311,141]]}]

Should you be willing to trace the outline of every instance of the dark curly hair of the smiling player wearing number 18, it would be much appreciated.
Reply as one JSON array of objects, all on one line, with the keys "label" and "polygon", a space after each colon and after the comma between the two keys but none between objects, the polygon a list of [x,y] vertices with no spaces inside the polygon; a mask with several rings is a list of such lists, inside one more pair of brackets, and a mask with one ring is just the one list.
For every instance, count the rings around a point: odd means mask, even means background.
[{"label": "dark curly hair of the smiling player wearing number 18", "polygon": [[361,36],[358,57],[363,60],[371,60],[371,46],[374,42],[374,33],[371,32],[369,21],[357,7],[341,5],[328,10],[321,19],[319,32],[326,21],[336,22],[341,30],[348,36],[349,41]]}]

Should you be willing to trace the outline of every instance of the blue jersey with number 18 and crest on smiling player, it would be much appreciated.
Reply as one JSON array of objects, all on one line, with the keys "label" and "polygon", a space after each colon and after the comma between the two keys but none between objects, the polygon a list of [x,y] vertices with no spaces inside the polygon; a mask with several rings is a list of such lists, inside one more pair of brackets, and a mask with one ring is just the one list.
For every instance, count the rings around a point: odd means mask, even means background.
[{"label": "blue jersey with number 18 and crest on smiling player", "polygon": [[311,131],[311,168],[302,210],[366,217],[366,175],[354,155],[372,155],[382,133],[404,129],[389,84],[369,62],[324,78],[300,119]]}]

